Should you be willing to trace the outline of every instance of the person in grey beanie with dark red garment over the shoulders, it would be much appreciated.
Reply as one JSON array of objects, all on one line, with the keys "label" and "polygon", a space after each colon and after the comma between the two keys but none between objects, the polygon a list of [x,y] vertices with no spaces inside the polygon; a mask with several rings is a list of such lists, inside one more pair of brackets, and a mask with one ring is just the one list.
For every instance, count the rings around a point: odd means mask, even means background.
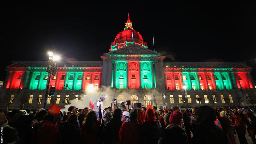
[{"label": "person in grey beanie with dark red garment over the shoulders", "polygon": [[138,122],[138,110],[132,109],[130,111],[130,121],[123,122],[119,131],[119,143],[130,144],[139,143],[140,137],[140,123]]}]

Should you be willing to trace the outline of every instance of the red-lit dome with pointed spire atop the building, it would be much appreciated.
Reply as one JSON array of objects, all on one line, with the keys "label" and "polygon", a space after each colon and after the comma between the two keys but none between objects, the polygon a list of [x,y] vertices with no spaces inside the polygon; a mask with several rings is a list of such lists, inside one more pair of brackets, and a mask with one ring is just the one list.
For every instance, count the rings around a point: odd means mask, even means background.
[{"label": "red-lit dome with pointed spire atop the building", "polygon": [[120,49],[131,43],[147,48],[141,34],[132,28],[132,22],[128,14],[128,19],[125,23],[124,30],[116,35],[115,40],[112,43],[112,46],[110,46],[109,51]]}]

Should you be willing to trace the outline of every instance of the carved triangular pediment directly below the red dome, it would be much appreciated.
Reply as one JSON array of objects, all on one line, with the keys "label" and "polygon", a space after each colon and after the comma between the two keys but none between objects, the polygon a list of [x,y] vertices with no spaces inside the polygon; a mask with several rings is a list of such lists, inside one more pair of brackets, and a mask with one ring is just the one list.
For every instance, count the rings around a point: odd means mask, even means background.
[{"label": "carved triangular pediment directly below the red dome", "polygon": [[107,55],[158,55],[161,56],[162,54],[159,54],[157,52],[154,52],[153,50],[144,48],[140,45],[136,44],[130,44],[126,47],[111,51],[107,53]]}]

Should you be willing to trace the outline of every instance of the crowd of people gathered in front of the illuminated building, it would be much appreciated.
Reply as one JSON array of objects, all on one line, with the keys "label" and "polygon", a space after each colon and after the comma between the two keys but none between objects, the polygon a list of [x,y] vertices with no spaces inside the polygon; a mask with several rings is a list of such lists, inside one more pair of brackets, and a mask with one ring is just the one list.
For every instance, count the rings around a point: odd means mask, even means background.
[{"label": "crowd of people gathered in front of the illuminated building", "polygon": [[[101,96],[99,100],[104,101]],[[3,143],[48,144],[247,144],[248,132],[254,144],[256,117],[250,108],[209,106],[180,110],[128,109],[127,103],[106,107],[78,109],[50,114],[40,109],[25,115],[23,111],[7,113],[0,109]]]}]

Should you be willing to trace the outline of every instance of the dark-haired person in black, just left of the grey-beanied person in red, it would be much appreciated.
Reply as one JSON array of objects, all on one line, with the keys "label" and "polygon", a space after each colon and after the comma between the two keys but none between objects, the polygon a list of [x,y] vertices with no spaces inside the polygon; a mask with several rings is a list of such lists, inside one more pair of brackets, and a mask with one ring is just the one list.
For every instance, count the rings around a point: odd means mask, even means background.
[{"label": "dark-haired person in black, just left of the grey-beanied person in red", "polygon": [[105,144],[118,143],[119,141],[119,131],[123,122],[121,121],[122,110],[117,108],[113,112],[113,118],[106,124],[103,132],[103,141]]}]

